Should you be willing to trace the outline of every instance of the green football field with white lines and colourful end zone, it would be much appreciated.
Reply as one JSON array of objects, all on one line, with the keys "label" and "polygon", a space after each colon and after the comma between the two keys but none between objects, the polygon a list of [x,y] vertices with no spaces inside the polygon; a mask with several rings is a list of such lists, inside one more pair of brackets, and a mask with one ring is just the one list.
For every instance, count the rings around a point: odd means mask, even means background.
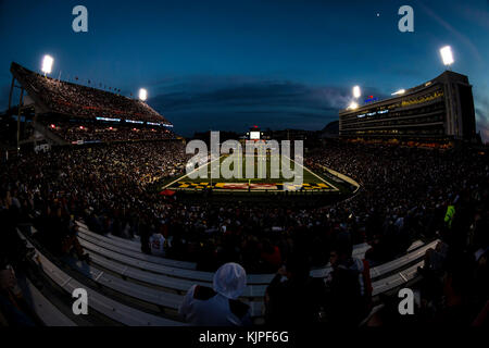
[{"label": "green football field with white lines and colourful end zone", "polygon": [[[306,167],[290,160],[290,171],[294,177],[285,177],[280,158],[268,156],[243,156],[242,163],[235,165],[230,156],[222,156],[214,162],[208,162],[205,165],[197,169],[192,174],[199,174],[199,177],[191,178],[189,175],[183,175],[179,178],[166,183],[163,188],[196,190],[210,188],[218,190],[283,190],[302,189],[302,190],[338,190],[324,176],[313,173]],[[276,162],[278,162],[278,166]],[[272,164],[278,169],[273,175]],[[220,165],[217,165],[220,164]],[[228,167],[233,172],[233,177],[225,177],[222,169]],[[294,173],[296,167],[299,170]],[[214,171],[214,175],[211,174]],[[206,175],[206,177],[203,177]],[[212,176],[212,178],[211,178]],[[278,176],[278,177],[277,177]],[[302,178],[302,179],[301,179]],[[289,185],[296,182],[293,185]],[[286,187],[285,187],[286,186]]]}]

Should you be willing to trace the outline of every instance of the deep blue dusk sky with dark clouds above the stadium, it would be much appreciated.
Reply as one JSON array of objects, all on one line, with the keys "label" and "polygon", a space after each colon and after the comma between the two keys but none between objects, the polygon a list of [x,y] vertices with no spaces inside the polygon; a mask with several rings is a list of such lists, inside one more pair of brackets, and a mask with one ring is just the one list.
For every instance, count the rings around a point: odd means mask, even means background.
[{"label": "deep blue dusk sky with dark clouds above the stadium", "polygon": [[[88,9],[74,33],[72,9]],[[414,9],[414,33],[398,9]],[[477,130],[489,140],[489,1],[68,1],[0,0],[0,110],[10,63],[78,76],[148,103],[191,136],[196,130],[321,129],[348,105],[351,87],[378,98],[443,72],[474,86]]]}]

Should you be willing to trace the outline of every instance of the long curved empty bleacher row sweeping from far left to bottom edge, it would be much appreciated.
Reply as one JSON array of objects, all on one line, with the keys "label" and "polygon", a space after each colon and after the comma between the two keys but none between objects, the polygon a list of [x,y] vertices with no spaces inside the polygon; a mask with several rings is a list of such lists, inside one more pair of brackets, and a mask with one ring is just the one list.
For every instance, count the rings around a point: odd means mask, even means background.
[{"label": "long curved empty bleacher row sweeping from far left to bottom edge", "polygon": [[[21,238],[26,238],[17,231]],[[27,244],[29,247],[35,248],[30,243]],[[67,275],[61,269],[59,269],[54,263],[48,260],[37,248],[36,256],[33,260],[42,269],[42,271],[61,288],[66,293],[73,294],[76,288],[84,288],[88,293],[88,306],[97,312],[111,318],[112,320],[131,326],[180,326],[184,325],[181,322],[173,321],[162,316],[146,313],[143,311],[137,310],[129,306],[120,303],[98,291],[91,289],[85,284],[82,284]],[[88,314],[89,315],[89,314]]]}]

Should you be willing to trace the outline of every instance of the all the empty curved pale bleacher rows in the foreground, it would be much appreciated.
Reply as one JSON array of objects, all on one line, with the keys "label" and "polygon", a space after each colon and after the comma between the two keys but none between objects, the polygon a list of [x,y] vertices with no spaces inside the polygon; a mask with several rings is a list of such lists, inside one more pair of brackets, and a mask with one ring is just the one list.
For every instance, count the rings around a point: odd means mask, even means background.
[{"label": "all the empty curved pale bleacher rows in the foreground", "polygon": [[[36,264],[67,294],[76,287],[86,288],[91,311],[106,318],[109,325],[183,325],[177,311],[188,288],[193,284],[212,286],[213,273],[196,271],[191,262],[147,256],[137,251],[135,244],[124,246],[121,245],[124,240],[93,234],[83,223],[79,226],[78,239],[90,253],[90,264],[71,257],[63,258],[62,264],[55,264],[39,246],[35,246],[38,254]],[[35,232],[35,228],[32,227],[32,231]],[[423,245],[422,241],[416,241],[405,256],[373,268],[373,295],[393,291],[414,282],[426,250],[434,248],[436,243]],[[364,253],[366,247],[356,246],[355,250],[360,250],[356,251],[358,254]],[[330,268],[327,266],[313,270],[311,275],[324,278],[329,272]],[[274,274],[248,275],[249,285],[241,299],[250,304],[255,323],[263,321],[263,298],[273,276]],[[46,301],[39,302],[57,313],[55,308],[49,308]],[[58,323],[71,324],[59,316]]]}]

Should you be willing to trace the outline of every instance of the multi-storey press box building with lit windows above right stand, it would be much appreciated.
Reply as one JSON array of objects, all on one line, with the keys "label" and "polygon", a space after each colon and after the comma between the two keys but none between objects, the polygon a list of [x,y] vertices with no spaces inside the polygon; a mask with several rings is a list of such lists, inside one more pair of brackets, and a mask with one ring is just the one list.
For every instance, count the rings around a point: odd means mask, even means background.
[{"label": "multi-storey press box building with lit windows above right stand", "polygon": [[473,140],[475,111],[468,77],[446,71],[402,95],[339,112],[341,138]]}]

